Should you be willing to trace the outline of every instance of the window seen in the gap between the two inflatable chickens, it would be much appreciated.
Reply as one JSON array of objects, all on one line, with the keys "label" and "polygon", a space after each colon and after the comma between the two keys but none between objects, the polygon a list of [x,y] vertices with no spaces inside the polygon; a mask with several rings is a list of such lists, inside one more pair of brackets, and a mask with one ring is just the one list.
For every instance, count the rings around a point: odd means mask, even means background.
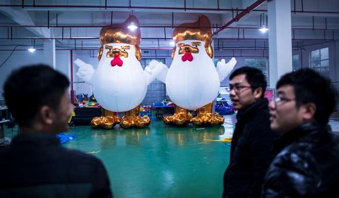
[{"label": "window seen in the gap between the two inflatable chickens", "polygon": [[[143,58],[140,63],[143,69],[149,65],[149,62],[156,60],[165,64],[165,59],[153,59],[153,58]],[[151,82],[147,86],[147,93],[144,100],[141,102],[141,105],[151,105],[156,102],[161,102],[166,98],[166,86],[164,83],[158,81],[157,79]]]}]

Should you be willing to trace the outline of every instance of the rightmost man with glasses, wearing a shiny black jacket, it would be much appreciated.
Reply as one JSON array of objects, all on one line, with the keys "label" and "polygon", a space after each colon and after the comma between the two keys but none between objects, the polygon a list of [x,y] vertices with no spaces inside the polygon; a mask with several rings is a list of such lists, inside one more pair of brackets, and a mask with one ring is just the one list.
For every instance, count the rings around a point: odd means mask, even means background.
[{"label": "rightmost man with glasses, wearing a shiny black jacket", "polygon": [[286,74],[270,102],[271,129],[279,132],[262,197],[339,197],[339,138],[329,117],[337,93],[311,69]]}]

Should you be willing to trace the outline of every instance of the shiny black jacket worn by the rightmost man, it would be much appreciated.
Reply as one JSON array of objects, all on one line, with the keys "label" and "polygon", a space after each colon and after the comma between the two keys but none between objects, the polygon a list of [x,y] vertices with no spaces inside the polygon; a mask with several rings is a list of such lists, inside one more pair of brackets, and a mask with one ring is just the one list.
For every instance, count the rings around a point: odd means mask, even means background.
[{"label": "shiny black jacket worn by the rightmost man", "polygon": [[339,138],[327,125],[307,123],[274,143],[263,198],[339,197]]}]

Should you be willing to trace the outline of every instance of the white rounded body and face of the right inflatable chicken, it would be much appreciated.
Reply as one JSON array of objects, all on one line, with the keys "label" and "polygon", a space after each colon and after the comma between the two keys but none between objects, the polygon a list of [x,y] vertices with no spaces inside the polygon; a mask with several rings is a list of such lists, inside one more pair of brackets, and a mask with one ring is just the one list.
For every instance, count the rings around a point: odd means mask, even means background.
[{"label": "white rounded body and face of the right inflatable chicken", "polygon": [[[185,40],[177,45],[166,77],[166,91],[176,105],[188,110],[198,109],[218,94],[219,77],[205,51],[205,42]],[[180,52],[185,48],[186,51],[191,48],[191,53]],[[192,60],[186,60],[186,57]]]}]

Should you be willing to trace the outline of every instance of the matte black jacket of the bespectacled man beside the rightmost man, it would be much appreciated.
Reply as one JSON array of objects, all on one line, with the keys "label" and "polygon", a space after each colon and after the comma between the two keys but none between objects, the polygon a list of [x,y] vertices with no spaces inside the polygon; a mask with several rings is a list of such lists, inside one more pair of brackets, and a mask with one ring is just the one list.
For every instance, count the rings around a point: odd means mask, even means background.
[{"label": "matte black jacket of the bespectacled man beside the rightmost man", "polygon": [[256,101],[238,112],[230,164],[223,177],[222,197],[260,197],[273,140],[278,137],[270,130],[269,117],[267,99]]}]

